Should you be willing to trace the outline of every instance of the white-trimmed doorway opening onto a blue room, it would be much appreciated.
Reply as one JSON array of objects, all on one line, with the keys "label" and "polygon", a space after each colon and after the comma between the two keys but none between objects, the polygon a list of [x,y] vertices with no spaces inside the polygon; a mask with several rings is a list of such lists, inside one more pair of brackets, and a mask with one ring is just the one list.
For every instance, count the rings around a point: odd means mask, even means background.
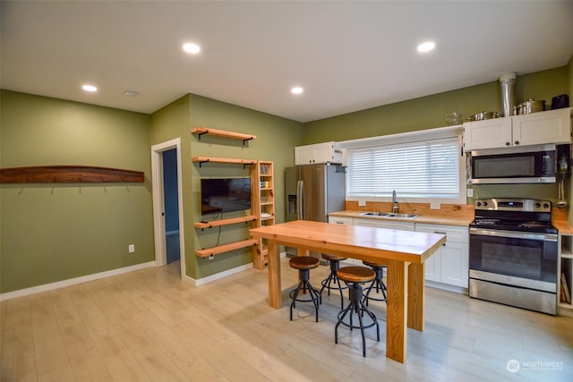
[{"label": "white-trimmed doorway opening onto a blue room", "polygon": [[[180,261],[185,276],[181,139],[151,147],[153,231],[158,267]],[[175,264],[174,264],[175,265]]]}]

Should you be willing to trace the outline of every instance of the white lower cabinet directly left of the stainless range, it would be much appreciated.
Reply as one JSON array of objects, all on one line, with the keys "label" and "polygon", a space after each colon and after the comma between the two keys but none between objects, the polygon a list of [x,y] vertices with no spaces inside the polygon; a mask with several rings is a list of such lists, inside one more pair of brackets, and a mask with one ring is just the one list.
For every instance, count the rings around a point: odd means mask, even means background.
[{"label": "white lower cabinet directly left of the stainless range", "polygon": [[446,243],[425,262],[425,278],[435,283],[467,288],[469,236],[467,227],[416,224],[416,232],[444,233]]}]

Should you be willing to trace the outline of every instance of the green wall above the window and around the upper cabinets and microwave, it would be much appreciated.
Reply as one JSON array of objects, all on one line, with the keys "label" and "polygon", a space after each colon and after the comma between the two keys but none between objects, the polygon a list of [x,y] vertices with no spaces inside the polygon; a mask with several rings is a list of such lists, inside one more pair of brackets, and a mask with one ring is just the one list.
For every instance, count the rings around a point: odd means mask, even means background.
[{"label": "green wall above the window and around the upper cabinets and microwave", "polygon": [[[554,96],[573,94],[569,72],[573,69],[563,66],[543,72],[518,76],[516,101],[528,98],[544,99],[551,107]],[[446,125],[444,115],[456,110],[465,118],[483,110],[500,111],[500,82],[492,81],[469,88],[456,89],[432,96],[409,99],[396,104],[373,107],[346,115],[322,119],[305,124],[304,144],[327,140],[355,140],[398,132],[414,132]],[[571,102],[569,100],[569,102]],[[474,198],[493,196],[539,198],[557,201],[557,184],[533,185],[474,185]],[[569,192],[570,195],[570,192]]]}]

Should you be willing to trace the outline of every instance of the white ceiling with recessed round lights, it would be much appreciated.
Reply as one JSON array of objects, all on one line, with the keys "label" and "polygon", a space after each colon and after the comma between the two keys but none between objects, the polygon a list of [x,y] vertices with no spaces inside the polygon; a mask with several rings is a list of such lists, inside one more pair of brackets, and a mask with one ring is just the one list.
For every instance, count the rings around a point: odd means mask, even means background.
[{"label": "white ceiling with recessed round lights", "polygon": [[[147,114],[194,93],[308,122],[563,66],[573,54],[570,0],[1,6],[3,89]],[[437,47],[420,55],[425,39]],[[185,54],[187,41],[201,54]],[[86,82],[98,92],[83,92]],[[304,94],[291,95],[294,85]]]}]

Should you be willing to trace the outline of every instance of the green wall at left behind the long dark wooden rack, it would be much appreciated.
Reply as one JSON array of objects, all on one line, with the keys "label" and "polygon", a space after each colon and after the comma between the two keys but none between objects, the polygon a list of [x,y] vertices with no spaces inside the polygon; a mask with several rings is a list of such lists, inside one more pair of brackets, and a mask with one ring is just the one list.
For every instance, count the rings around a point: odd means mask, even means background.
[{"label": "green wall at left behind the long dark wooden rack", "polygon": [[152,261],[150,116],[7,90],[1,102],[3,168],[115,167],[145,183],[2,184],[0,292]]}]

